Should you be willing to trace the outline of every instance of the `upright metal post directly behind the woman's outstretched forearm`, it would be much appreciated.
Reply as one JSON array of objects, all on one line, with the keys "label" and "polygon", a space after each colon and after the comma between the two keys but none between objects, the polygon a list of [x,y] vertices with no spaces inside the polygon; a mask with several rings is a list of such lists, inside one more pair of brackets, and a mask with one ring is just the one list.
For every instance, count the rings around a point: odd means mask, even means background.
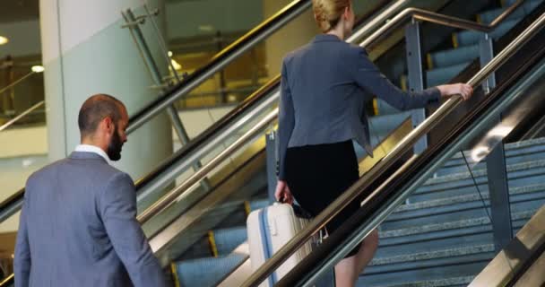
[{"label": "upright metal post directly behind the woman's outstretched forearm", "polygon": [[[422,49],[420,47],[420,23],[412,20],[405,27],[407,50],[407,68],[409,74],[409,91],[423,91]],[[412,127],[419,126],[426,119],[426,109],[413,109],[411,113]],[[423,152],[428,147],[428,137],[423,136],[415,145],[414,153]]]}]

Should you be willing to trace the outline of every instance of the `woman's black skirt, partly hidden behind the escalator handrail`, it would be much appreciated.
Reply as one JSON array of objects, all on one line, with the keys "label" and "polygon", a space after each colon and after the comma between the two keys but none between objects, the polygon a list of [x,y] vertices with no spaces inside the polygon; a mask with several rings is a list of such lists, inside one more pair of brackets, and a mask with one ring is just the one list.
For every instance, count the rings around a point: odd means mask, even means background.
[{"label": "woman's black skirt, partly hidden behind the escalator handrail", "polygon": [[[290,147],[286,152],[286,181],[298,204],[313,216],[321,213],[359,178],[358,158],[351,141]],[[325,225],[329,234],[359,209],[349,204]],[[359,246],[346,257],[356,255]]]}]

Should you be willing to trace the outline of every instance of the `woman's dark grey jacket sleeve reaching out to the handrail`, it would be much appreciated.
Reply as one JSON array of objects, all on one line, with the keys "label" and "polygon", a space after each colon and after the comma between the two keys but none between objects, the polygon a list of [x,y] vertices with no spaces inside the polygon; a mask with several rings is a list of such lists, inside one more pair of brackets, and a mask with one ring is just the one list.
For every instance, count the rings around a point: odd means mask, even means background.
[{"label": "woman's dark grey jacket sleeve reaching out to the handrail", "polygon": [[[391,83],[380,73],[363,48],[353,48],[349,65],[352,65],[354,81],[364,90],[375,94],[396,109],[424,108],[440,103],[441,92],[436,87],[424,91],[406,92]],[[355,55],[355,56],[354,56]]]}]

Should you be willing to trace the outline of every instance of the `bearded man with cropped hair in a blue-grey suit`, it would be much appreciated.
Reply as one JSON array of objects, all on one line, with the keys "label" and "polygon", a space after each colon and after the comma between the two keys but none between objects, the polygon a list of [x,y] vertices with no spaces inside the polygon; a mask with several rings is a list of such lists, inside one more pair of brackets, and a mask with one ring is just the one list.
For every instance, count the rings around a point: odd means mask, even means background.
[{"label": "bearded man with cropped hair in a blue-grey suit", "polygon": [[108,164],[121,158],[128,116],[99,94],[78,117],[81,143],[27,181],[15,246],[15,286],[164,286],[136,221],[132,179]]}]

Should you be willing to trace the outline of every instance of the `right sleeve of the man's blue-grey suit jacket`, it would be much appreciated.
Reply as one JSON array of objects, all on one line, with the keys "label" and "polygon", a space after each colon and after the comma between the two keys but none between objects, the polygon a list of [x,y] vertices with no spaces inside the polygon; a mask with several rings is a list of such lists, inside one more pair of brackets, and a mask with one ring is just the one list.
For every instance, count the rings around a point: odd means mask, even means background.
[{"label": "right sleeve of the man's blue-grey suit jacket", "polygon": [[99,210],[108,238],[134,286],[165,286],[159,262],[136,221],[136,192],[128,175],[117,173],[108,180]]}]

